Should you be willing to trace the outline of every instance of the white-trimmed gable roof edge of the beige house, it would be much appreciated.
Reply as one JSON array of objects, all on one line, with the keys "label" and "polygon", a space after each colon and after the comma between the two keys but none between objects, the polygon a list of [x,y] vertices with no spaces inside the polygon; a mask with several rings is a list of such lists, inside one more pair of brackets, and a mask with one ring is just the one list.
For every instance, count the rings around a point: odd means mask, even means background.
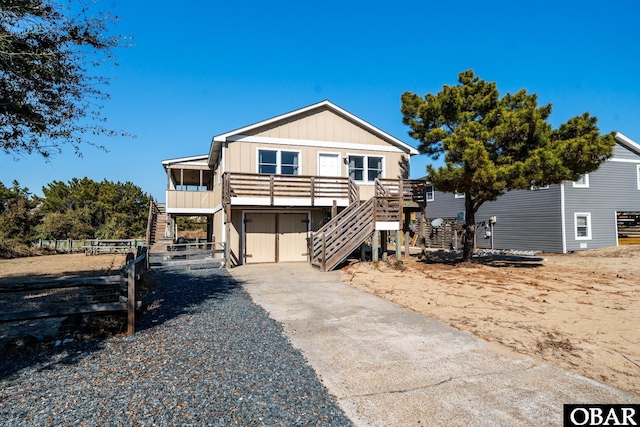
[{"label": "white-trimmed gable roof edge of the beige house", "polygon": [[387,141],[389,144],[397,147],[398,149],[404,151],[405,153],[409,154],[410,156],[413,156],[415,154],[418,154],[418,150],[416,150],[415,148],[413,148],[412,146],[410,146],[409,144],[399,140],[398,138],[384,132],[383,130],[375,127],[374,125],[372,125],[369,122],[366,122],[364,120],[362,120],[361,118],[355,116],[354,114],[351,114],[350,112],[348,112],[347,110],[338,107],[336,104],[332,103],[329,100],[324,100],[321,102],[318,102],[316,104],[312,104],[309,105],[307,107],[303,107],[294,111],[290,111],[288,113],[285,114],[281,114],[279,116],[275,116],[272,117],[270,119],[266,119],[263,120],[261,122],[258,123],[254,123],[248,126],[244,126],[241,127],[239,129],[235,129],[217,136],[214,136],[213,139],[211,140],[211,149],[209,150],[209,164],[213,165],[216,163],[218,156],[220,156],[220,152],[222,150],[222,144],[224,142],[232,142],[235,139],[237,139],[238,136],[243,135],[244,133],[259,129],[263,126],[272,124],[272,123],[276,123],[279,121],[283,121],[283,120],[287,120],[287,119],[293,119],[296,116],[302,116],[306,113],[309,113],[310,111],[313,110],[322,110],[322,109],[328,109],[332,112],[334,112],[335,114],[337,114],[338,116],[344,117],[347,120],[359,125],[360,127],[362,127],[363,129],[371,132],[372,134],[376,135],[377,137]]}]

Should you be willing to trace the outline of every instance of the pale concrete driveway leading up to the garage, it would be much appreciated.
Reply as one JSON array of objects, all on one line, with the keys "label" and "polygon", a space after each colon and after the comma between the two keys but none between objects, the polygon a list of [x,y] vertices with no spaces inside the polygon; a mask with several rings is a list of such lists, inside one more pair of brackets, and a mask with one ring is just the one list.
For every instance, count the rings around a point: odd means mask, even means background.
[{"label": "pale concrete driveway leading up to the garage", "polygon": [[357,426],[562,425],[564,403],[640,403],[340,282],[308,264],[231,275],[280,322]]}]

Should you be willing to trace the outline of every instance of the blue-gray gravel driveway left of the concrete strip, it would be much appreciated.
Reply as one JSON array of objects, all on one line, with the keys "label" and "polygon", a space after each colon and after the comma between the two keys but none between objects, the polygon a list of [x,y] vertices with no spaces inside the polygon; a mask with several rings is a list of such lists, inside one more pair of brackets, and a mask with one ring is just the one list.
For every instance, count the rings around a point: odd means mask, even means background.
[{"label": "blue-gray gravel driveway left of the concrete strip", "polygon": [[351,425],[224,270],[154,273],[131,337],[0,359],[0,425]]}]

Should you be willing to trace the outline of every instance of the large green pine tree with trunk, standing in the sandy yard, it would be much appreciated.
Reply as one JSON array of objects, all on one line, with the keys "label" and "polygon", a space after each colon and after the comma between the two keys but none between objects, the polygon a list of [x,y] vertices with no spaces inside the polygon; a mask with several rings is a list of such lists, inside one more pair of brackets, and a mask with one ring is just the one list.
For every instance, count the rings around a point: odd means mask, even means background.
[{"label": "large green pine tree with trunk, standing in the sandy yard", "polygon": [[471,259],[475,213],[509,190],[576,180],[595,171],[613,153],[614,134],[600,135],[597,119],[584,113],[558,129],[547,122],[551,104],[538,106],[535,94],[522,89],[500,98],[495,83],[472,70],[424,99],[402,95],[403,123],[420,141],[418,151],[445,165],[427,166],[441,191],[465,194],[464,258]]}]

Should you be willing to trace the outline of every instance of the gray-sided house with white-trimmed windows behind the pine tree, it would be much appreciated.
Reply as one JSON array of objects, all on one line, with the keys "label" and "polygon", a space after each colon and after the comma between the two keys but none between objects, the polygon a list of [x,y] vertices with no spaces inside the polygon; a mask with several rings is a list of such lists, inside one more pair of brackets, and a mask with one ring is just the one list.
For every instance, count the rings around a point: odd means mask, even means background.
[{"label": "gray-sided house with white-trimmed windows behind the pine tree", "polygon": [[[640,219],[640,145],[618,133],[612,158],[576,182],[509,191],[476,213],[479,248],[567,253],[618,245]],[[427,220],[456,218],[464,196],[427,187]],[[495,216],[493,232],[490,217]],[[621,219],[624,218],[624,219]]]}]

